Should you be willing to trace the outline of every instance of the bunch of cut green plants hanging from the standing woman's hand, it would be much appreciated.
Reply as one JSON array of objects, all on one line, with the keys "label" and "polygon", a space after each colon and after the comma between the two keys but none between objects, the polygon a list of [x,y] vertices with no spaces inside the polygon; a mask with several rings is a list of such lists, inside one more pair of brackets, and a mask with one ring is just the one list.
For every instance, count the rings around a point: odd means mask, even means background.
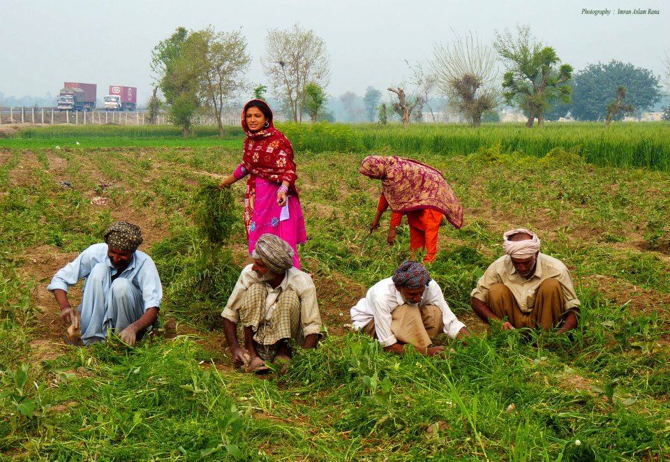
[{"label": "bunch of cut green plants hanging from the standing woman's hand", "polygon": [[228,241],[240,216],[236,208],[232,191],[211,180],[201,182],[191,204],[195,225],[213,244]]}]

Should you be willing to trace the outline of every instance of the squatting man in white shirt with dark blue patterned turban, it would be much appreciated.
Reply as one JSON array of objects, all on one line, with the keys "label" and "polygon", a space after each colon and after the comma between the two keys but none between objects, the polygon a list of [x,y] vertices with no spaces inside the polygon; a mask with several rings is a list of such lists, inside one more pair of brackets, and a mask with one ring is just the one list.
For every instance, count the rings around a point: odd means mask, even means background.
[{"label": "squatting man in white shirt with dark blue patterned turban", "polygon": [[428,356],[442,346],[432,338],[445,332],[449,338],[470,337],[470,331],[452,313],[442,289],[422,263],[403,262],[390,278],[373,285],[365,298],[351,308],[354,329],[376,338],[385,351],[407,348]]}]

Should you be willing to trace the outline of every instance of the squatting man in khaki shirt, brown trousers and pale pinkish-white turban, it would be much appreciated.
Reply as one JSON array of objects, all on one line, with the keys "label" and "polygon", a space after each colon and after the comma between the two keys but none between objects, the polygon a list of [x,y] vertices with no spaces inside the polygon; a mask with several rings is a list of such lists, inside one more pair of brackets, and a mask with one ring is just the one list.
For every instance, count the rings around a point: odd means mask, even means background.
[{"label": "squatting man in khaki shirt, brown trousers and pale pinkish-white turban", "polygon": [[470,294],[472,310],[484,322],[498,320],[502,329],[535,328],[558,333],[574,329],[579,299],[565,264],[539,252],[540,241],[526,228],[505,232],[498,258]]}]

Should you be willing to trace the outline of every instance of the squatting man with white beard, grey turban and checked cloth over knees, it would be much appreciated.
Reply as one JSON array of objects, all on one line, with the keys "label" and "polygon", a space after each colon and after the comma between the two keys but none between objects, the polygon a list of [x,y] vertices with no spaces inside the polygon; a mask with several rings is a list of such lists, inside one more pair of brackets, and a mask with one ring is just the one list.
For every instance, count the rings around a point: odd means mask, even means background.
[{"label": "squatting man with white beard, grey turban and checked cloth over knees", "polygon": [[[251,253],[253,263],[239,275],[223,316],[223,332],[232,359],[244,371],[269,371],[274,362],[285,372],[292,356],[290,341],[315,348],[321,316],[312,278],[293,267],[293,249],[274,234],[263,234]],[[237,324],[244,331],[244,348]]]}]

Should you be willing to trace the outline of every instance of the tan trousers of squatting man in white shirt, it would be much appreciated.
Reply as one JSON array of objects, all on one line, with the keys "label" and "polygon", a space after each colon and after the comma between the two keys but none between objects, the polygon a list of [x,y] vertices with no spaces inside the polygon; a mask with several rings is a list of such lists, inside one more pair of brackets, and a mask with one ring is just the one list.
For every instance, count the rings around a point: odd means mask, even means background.
[{"label": "tan trousers of squatting man in white shirt", "polygon": [[[409,343],[419,350],[428,348],[431,338],[445,329],[442,310],[435,305],[416,306],[404,304],[391,313],[391,331],[399,343]],[[368,322],[364,333],[377,338],[375,320]]]}]

